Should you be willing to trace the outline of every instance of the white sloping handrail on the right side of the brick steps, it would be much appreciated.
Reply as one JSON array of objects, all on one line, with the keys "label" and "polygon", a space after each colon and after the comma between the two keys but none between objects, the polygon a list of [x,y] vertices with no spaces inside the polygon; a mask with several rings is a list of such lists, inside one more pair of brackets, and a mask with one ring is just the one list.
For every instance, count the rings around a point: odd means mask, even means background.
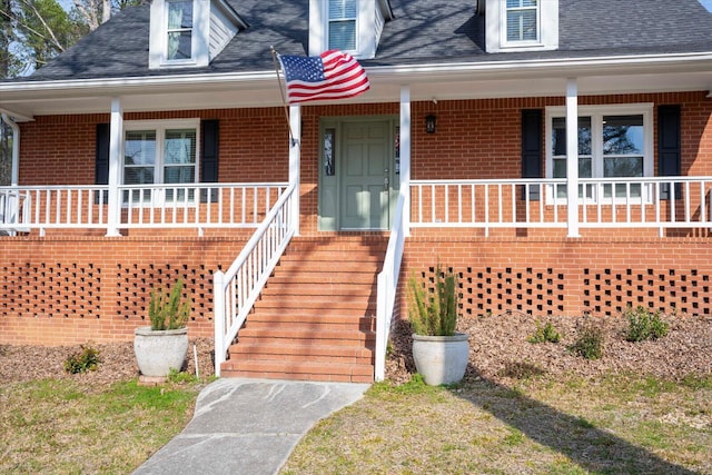
[{"label": "white sloping handrail on the right side of the brick steps", "polygon": [[386,370],[386,348],[388,345],[388,334],[390,333],[390,321],[396,303],[398,290],[398,277],[400,276],[400,261],[405,248],[405,229],[403,226],[403,212],[405,198],[398,196],[396,211],[390,228],[388,248],[383,263],[383,270],[378,274],[377,307],[376,307],[376,355],[375,355],[375,379],[384,380]]}]

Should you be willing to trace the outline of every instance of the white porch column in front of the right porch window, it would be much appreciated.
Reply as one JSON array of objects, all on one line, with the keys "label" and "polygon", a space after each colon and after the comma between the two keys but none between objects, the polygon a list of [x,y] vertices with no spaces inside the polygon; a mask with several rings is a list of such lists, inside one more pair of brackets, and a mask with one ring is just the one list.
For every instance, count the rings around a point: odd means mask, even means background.
[{"label": "white porch column in front of the right porch window", "polygon": [[568,237],[578,234],[578,85],[566,80],[566,199]]}]

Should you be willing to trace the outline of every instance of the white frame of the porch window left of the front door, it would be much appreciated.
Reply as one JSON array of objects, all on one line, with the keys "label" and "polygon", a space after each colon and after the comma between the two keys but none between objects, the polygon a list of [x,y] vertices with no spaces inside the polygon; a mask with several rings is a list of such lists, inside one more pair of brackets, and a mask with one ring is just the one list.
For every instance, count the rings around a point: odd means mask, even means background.
[{"label": "white frame of the porch window left of the front door", "polygon": [[[174,129],[195,129],[196,131],[196,162],[195,167],[195,181],[188,184],[166,184],[164,176],[165,168],[165,141],[166,141],[166,130]],[[125,157],[126,157],[126,133],[129,131],[137,130],[151,130],[156,132],[156,161],[154,164],[154,182],[150,185],[176,185],[176,186],[188,186],[191,184],[200,182],[200,119],[168,119],[168,120],[130,120],[123,122],[123,150],[121,151],[121,177],[120,182],[121,186],[125,186]],[[147,186],[149,184],[146,184]],[[138,185],[140,186],[140,185]],[[122,199],[122,205],[127,207],[129,201]],[[197,200],[196,197],[192,197],[187,200],[189,204],[195,204]],[[186,201],[171,198],[166,199],[164,194],[158,194],[157,197],[154,197],[151,204],[155,206],[182,206]]]}]

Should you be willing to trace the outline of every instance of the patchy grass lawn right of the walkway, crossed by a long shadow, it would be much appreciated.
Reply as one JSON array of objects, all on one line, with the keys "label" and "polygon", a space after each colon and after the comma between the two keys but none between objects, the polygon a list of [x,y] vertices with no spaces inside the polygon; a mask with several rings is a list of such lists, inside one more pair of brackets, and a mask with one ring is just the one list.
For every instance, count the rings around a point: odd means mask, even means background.
[{"label": "patchy grass lawn right of the walkway, crossed by a long shadow", "polygon": [[377,384],[286,474],[712,474],[712,376]]}]

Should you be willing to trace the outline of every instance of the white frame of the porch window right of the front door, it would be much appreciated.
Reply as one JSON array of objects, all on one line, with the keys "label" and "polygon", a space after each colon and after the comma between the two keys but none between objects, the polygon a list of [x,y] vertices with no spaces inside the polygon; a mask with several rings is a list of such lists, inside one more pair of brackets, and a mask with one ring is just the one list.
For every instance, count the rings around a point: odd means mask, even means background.
[{"label": "white frame of the porch window right of the front door", "polygon": [[[643,116],[643,178],[654,176],[654,128],[653,128],[653,103],[625,103],[625,105],[605,105],[605,106],[580,106],[578,117],[591,117],[591,175],[592,178],[603,178],[603,116]],[[546,147],[546,178],[553,178],[554,176],[554,156],[553,156],[553,119],[565,118],[565,107],[547,107],[545,112],[545,147]],[[548,186],[546,192],[546,204],[554,204],[554,190],[553,186]],[[652,202],[652,186],[644,186],[641,190],[641,197],[632,197],[631,199],[645,204]],[[625,202],[625,198],[619,198],[615,196],[615,191],[612,197],[597,197],[594,192],[593,196],[581,197],[584,204],[595,202]],[[557,197],[557,204],[564,204],[567,198]]]}]

